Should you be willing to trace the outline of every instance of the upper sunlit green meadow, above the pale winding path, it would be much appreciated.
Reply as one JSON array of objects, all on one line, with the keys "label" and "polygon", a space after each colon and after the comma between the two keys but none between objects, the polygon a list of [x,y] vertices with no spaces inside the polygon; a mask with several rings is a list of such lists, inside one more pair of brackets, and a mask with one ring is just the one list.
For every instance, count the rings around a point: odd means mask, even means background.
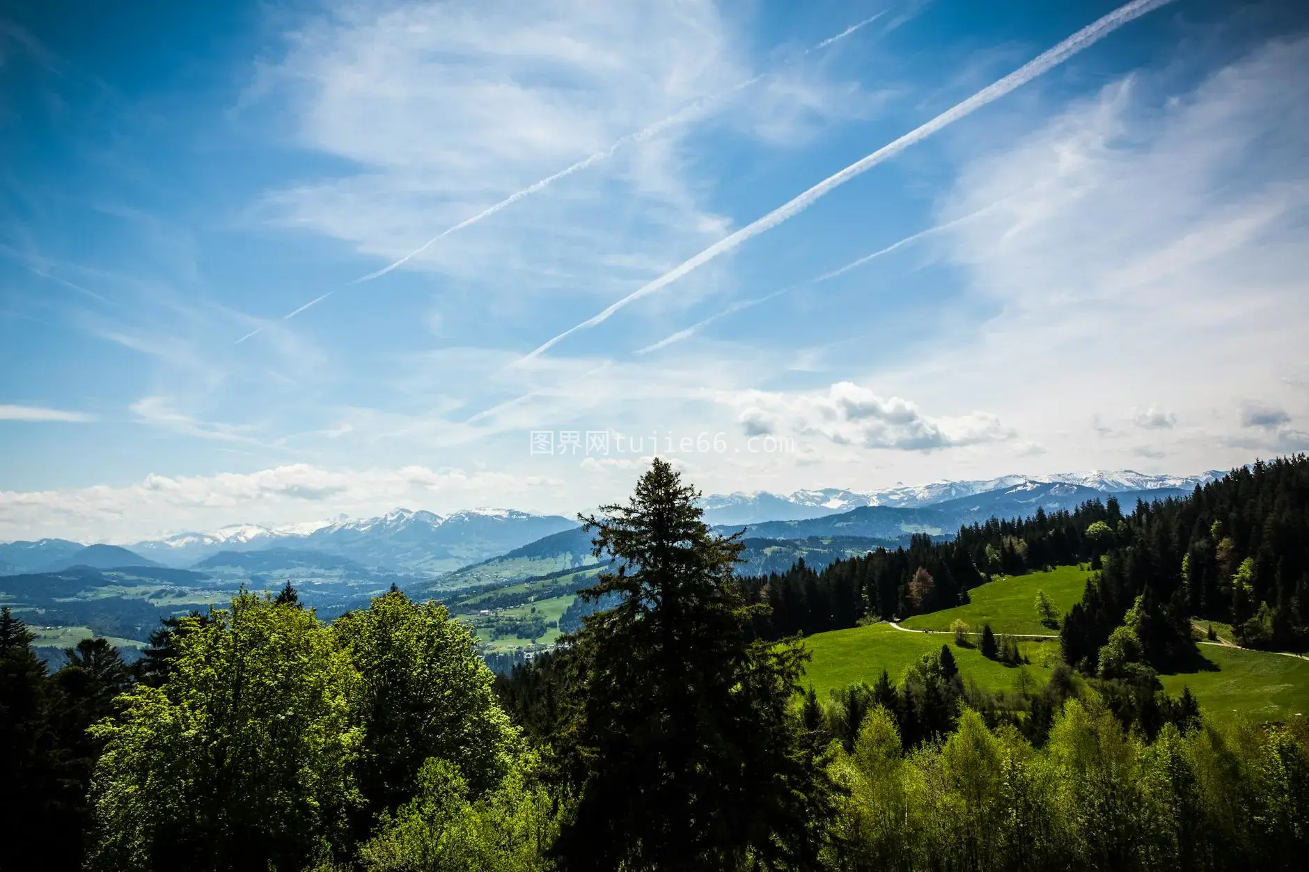
[{"label": "upper sunlit green meadow, above the pale winding path", "polygon": [[1062,566],[1050,572],[1005,576],[969,590],[971,602],[931,614],[916,614],[901,622],[912,630],[949,630],[961,618],[974,631],[990,623],[996,632],[1012,635],[1051,635],[1037,618],[1037,590],[1045,590],[1055,608],[1064,614],[1081,600],[1089,572],[1083,567]]}]

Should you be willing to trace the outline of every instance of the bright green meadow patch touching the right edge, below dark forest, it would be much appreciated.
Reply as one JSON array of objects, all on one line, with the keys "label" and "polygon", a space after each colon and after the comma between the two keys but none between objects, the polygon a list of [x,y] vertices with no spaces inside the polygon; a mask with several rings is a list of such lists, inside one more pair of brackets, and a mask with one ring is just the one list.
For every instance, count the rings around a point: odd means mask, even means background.
[{"label": "bright green meadow patch touching the right edge, below dark forest", "polygon": [[1219,720],[1241,714],[1257,721],[1309,716],[1309,660],[1223,645],[1200,645],[1200,653],[1211,668],[1160,676],[1168,693],[1190,687]]}]

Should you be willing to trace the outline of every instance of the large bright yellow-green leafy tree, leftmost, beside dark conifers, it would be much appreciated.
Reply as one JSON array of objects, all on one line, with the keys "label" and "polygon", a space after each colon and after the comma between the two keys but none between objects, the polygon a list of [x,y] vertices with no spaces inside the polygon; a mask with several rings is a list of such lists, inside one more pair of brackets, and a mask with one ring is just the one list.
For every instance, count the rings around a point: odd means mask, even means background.
[{"label": "large bright yellow-green leafy tree, leftmost, beside dark conifers", "polygon": [[302,868],[359,801],[357,674],[312,611],[245,592],[175,644],[165,685],[93,731],[93,865]]}]

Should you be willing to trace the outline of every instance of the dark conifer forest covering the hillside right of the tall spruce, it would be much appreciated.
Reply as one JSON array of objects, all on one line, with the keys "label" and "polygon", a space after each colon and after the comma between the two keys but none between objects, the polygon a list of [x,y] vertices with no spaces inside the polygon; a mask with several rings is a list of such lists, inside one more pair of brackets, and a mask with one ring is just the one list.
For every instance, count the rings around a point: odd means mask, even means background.
[{"label": "dark conifer forest covering the hillside right of the tall spruce", "polygon": [[907,549],[878,549],[821,572],[798,563],[745,583],[772,610],[759,630],[780,638],[850,627],[864,615],[935,611],[966,602],[991,575],[1084,560],[1101,572],[1064,625],[1071,663],[1093,666],[1086,661],[1138,597],[1148,659],[1185,653],[1191,615],[1232,623],[1249,647],[1304,647],[1309,457],[1257,462],[1127,513],[1114,498],[1037,509],[1025,520],[965,526],[952,542],[918,536]]}]

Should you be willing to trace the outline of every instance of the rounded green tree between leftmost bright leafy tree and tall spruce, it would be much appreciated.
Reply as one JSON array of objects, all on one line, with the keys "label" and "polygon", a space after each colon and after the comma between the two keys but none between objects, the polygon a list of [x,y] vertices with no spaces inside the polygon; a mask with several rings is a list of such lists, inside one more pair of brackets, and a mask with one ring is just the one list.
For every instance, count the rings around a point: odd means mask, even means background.
[{"label": "rounded green tree between leftmost bright leafy tree and tall spruce", "polygon": [[357,772],[368,818],[414,796],[428,758],[454,766],[474,796],[500,782],[518,735],[473,634],[445,606],[393,590],[338,618],[332,631],[363,678],[353,707],[364,728]]}]

